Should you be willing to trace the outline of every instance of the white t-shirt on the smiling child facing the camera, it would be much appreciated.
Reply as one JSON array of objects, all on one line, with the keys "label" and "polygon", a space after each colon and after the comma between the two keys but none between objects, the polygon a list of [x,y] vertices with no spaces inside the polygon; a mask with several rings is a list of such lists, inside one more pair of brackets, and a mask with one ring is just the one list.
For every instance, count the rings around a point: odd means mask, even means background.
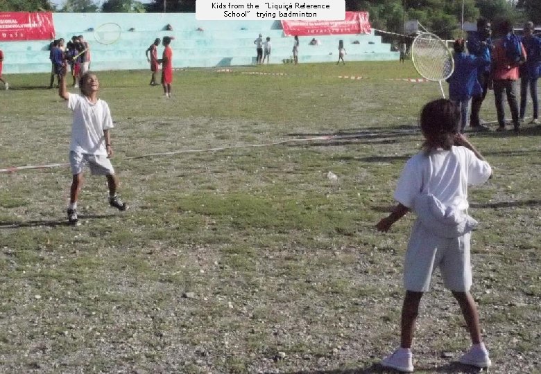
[{"label": "white t-shirt on the smiling child facing the camera", "polygon": [[69,150],[107,155],[103,130],[114,127],[109,105],[100,99],[92,104],[82,94],[69,94],[68,107],[74,112]]}]

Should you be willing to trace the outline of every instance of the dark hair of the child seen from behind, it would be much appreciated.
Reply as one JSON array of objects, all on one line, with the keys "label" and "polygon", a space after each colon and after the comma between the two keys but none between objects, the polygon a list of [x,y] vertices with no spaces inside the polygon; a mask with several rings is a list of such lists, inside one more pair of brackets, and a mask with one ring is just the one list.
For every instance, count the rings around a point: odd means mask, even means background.
[{"label": "dark hair of the child seen from behind", "polygon": [[438,99],[424,105],[420,115],[424,153],[428,155],[437,148],[450,150],[458,134],[460,118],[460,110],[451,100]]}]

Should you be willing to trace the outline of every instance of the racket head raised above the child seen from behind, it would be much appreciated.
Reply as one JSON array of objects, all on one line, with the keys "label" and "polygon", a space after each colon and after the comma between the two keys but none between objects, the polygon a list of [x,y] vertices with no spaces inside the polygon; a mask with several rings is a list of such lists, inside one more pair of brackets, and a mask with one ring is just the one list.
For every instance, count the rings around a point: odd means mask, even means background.
[{"label": "racket head raised above the child seen from behind", "polygon": [[415,70],[427,80],[442,81],[454,71],[453,54],[437,35],[420,33],[411,44]]}]

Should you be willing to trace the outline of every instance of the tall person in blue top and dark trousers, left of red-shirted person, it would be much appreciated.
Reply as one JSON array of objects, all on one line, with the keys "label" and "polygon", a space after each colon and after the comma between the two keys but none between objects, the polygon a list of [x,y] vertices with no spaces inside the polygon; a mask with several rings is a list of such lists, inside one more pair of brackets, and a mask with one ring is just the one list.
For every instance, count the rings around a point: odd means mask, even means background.
[{"label": "tall person in blue top and dark trousers, left of red-shirted person", "polygon": [[[484,17],[477,19],[477,31],[470,34],[467,39],[467,50],[470,55],[476,57],[488,58],[490,61],[490,51],[492,49],[492,25],[490,21]],[[485,100],[486,93],[488,91],[488,84],[490,82],[490,64],[480,66],[477,71],[477,80],[481,84],[481,94],[476,94],[472,97],[472,112],[470,114],[470,126],[472,130],[487,131],[488,127],[481,125],[479,120],[479,111],[481,110],[481,104]]]}]

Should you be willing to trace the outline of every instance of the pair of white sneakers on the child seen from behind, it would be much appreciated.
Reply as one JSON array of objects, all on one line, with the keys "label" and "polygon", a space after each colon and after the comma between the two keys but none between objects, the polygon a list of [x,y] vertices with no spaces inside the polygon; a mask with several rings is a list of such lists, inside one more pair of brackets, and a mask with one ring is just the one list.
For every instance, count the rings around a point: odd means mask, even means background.
[{"label": "pair of white sneakers on the child seen from behind", "polygon": [[[488,350],[483,343],[476,344],[470,348],[458,362],[478,368],[488,368],[492,365]],[[381,360],[381,366],[393,368],[403,373],[413,373],[413,354],[409,348],[398,348],[391,355]]]}]

